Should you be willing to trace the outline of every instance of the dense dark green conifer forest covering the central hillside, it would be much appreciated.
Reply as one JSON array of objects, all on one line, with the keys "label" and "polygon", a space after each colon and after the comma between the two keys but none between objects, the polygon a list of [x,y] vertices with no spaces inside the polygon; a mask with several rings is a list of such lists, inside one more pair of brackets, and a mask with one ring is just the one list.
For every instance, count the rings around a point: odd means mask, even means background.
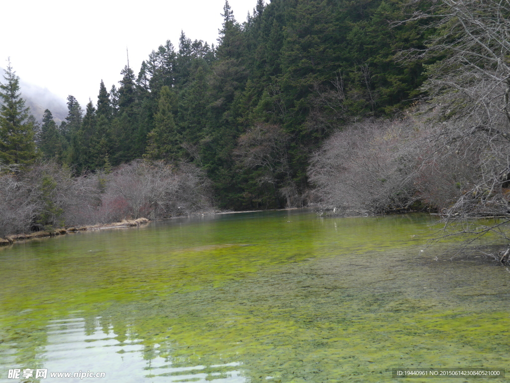
[{"label": "dense dark green conifer forest covering the central hillside", "polygon": [[220,207],[299,206],[310,155],[330,132],[392,115],[424,80],[422,61],[395,60],[425,39],[423,20],[391,23],[405,18],[399,0],[258,0],[243,23],[226,2],[222,15],[217,46],[182,33],[138,74],[125,66],[118,88],[101,82],[85,111],[69,96],[60,126],[46,111],[39,156],[75,176],[184,160],[207,172]]}]

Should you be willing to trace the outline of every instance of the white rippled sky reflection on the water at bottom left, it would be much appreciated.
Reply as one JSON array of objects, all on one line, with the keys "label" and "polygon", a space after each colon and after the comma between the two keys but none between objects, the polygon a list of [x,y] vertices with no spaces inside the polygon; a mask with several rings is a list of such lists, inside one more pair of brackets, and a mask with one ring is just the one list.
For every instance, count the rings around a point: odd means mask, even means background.
[{"label": "white rippled sky reflection on the water at bottom left", "polygon": [[[61,381],[49,373],[107,371],[106,381],[197,381],[215,380],[218,383],[241,383],[246,378],[238,370],[239,362],[216,365],[187,365],[182,359],[161,356],[171,345],[144,346],[141,339],[124,339],[114,333],[113,326],[104,328],[101,318],[93,319],[90,328],[84,318],[50,320],[47,325],[47,344],[43,351],[44,368],[48,369],[47,382]],[[88,327],[88,329],[87,329]],[[123,338],[123,337],[120,337]],[[32,366],[24,366],[29,368]],[[66,382],[97,381],[95,378],[66,378]]]}]

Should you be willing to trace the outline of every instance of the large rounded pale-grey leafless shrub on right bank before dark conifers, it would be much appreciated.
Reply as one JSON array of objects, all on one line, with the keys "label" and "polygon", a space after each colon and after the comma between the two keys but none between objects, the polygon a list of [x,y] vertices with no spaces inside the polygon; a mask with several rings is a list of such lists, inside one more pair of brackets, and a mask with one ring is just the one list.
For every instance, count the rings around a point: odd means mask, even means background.
[{"label": "large rounded pale-grey leafless shrub on right bank before dark conifers", "polygon": [[335,133],[311,161],[321,206],[386,213],[419,200],[414,185],[419,132],[410,119],[365,121]]}]

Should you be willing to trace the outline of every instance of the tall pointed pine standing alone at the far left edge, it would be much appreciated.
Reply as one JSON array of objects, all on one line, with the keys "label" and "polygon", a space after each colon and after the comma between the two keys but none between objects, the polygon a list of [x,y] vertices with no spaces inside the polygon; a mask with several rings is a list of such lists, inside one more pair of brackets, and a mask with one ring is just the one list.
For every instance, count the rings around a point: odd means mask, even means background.
[{"label": "tall pointed pine standing alone at the far left edge", "polygon": [[0,83],[0,161],[31,165],[36,159],[35,133],[29,120],[29,108],[19,93],[19,77],[7,65],[5,84]]}]

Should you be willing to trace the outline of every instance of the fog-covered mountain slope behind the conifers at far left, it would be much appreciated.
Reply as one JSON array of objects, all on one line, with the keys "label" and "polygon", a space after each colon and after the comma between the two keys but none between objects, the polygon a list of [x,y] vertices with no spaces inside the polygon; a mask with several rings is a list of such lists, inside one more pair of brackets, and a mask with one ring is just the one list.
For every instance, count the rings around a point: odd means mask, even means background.
[{"label": "fog-covered mountain slope behind the conifers at far left", "polygon": [[[0,68],[0,82],[4,83],[3,75],[5,70]],[[42,121],[42,116],[46,109],[53,114],[53,119],[60,123],[67,116],[67,104],[64,99],[50,92],[47,88],[30,84],[23,79],[19,79],[19,87],[21,88],[21,97],[25,100],[25,105],[30,107],[30,113],[35,116],[38,121]]]}]

